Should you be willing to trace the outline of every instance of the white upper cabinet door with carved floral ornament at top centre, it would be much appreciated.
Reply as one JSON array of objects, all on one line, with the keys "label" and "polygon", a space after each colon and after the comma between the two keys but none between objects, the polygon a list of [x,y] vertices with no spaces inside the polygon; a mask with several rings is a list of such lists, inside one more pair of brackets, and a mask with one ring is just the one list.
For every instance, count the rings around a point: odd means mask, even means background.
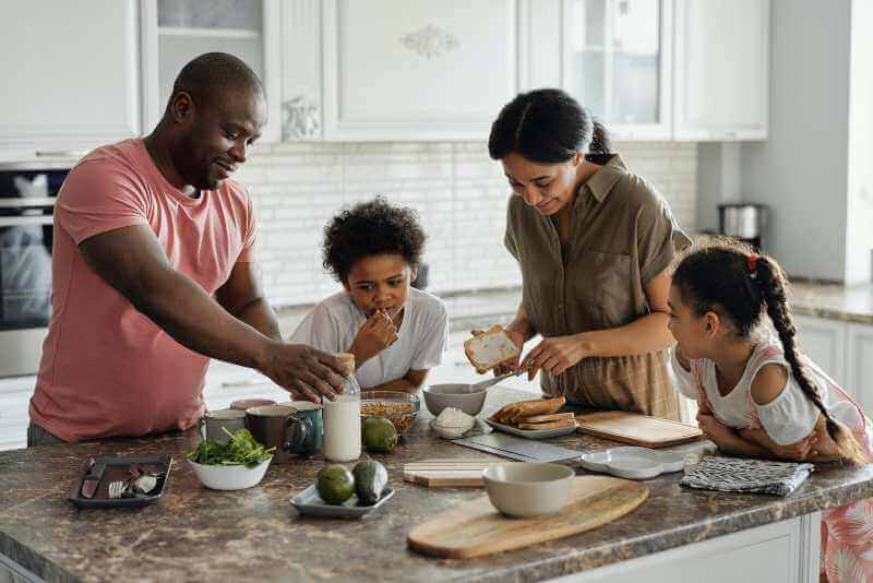
[{"label": "white upper cabinet door with carved floral ornament at top centre", "polygon": [[519,86],[516,4],[324,0],[324,139],[487,140]]}]

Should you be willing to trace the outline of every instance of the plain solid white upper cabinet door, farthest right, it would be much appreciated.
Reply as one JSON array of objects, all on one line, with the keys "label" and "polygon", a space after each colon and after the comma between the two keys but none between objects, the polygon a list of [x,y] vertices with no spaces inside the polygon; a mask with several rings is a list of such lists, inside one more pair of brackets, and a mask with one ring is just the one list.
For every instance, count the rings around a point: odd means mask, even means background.
[{"label": "plain solid white upper cabinet door, farthest right", "polygon": [[764,140],[769,0],[675,0],[677,140]]}]

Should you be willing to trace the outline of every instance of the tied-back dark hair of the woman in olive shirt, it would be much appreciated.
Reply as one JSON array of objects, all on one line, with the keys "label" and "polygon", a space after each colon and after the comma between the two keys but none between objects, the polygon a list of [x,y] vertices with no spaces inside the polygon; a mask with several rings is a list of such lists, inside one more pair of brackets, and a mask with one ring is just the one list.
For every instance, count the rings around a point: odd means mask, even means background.
[{"label": "tied-back dark hair of the woman in olive shirt", "polygon": [[500,110],[488,138],[492,159],[516,152],[531,162],[554,164],[586,150],[609,154],[607,130],[561,90],[519,93]]}]

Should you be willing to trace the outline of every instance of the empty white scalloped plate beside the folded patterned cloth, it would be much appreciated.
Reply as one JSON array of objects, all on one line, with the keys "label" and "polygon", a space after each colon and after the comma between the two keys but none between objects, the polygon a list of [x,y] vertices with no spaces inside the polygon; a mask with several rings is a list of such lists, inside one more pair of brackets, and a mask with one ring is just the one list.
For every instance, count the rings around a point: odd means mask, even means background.
[{"label": "empty white scalloped plate beside the folded patterned cloth", "polygon": [[659,474],[679,472],[685,466],[686,450],[650,450],[648,448],[612,448],[586,453],[582,466],[631,479],[648,479]]}]

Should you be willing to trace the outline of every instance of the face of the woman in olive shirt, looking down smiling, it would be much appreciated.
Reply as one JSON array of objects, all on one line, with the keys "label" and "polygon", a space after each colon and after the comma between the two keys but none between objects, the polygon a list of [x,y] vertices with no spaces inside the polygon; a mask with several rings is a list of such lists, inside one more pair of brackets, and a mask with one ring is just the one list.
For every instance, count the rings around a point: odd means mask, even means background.
[{"label": "face of the woman in olive shirt, looking down smiling", "polygon": [[583,159],[576,153],[567,162],[540,164],[512,152],[501,162],[512,191],[541,215],[550,216],[573,201],[576,170]]}]

